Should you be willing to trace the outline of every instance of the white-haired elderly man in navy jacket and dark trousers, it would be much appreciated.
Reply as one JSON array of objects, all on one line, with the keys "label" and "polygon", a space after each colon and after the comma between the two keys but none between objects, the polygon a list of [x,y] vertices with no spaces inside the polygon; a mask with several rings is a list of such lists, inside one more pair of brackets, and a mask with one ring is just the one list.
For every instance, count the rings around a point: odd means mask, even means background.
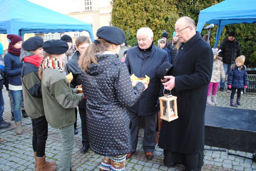
[{"label": "white-haired elderly man in navy jacket and dark trousers", "polygon": [[157,70],[163,62],[169,62],[169,60],[167,52],[154,45],[153,32],[150,28],[140,28],[137,31],[137,40],[138,45],[128,50],[125,63],[130,75],[134,74],[137,77],[145,77],[147,75],[150,77],[150,81],[147,90],[143,92],[138,102],[131,107],[127,107],[132,120],[132,151],[128,153],[126,158],[130,158],[132,153],[136,151],[139,123],[141,116],[144,116],[143,149],[146,152],[146,158],[152,159],[155,149],[156,115],[159,111],[157,101],[161,93],[160,87],[162,86],[161,80],[157,76]]}]

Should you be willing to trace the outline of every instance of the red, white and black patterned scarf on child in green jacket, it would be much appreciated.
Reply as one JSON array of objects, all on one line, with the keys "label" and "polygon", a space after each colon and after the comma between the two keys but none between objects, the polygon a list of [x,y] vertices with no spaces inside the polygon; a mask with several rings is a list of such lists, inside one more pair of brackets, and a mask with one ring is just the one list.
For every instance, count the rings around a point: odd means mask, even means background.
[{"label": "red, white and black patterned scarf on child in green jacket", "polygon": [[64,71],[64,62],[61,62],[60,60],[53,58],[51,56],[46,56],[43,61],[43,68],[54,68],[57,69],[60,72]]}]

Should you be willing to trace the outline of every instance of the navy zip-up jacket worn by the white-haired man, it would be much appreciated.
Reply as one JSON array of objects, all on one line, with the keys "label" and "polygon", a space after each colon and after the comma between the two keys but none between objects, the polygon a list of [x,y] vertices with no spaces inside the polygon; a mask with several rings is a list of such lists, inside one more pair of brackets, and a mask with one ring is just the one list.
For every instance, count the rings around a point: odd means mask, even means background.
[{"label": "navy zip-up jacket worn by the white-haired man", "polygon": [[[151,48],[152,47],[152,48]],[[163,62],[169,62],[167,52],[154,43],[147,50],[142,50],[139,46],[132,47],[126,54],[125,63],[130,75],[137,77],[149,76],[148,88],[143,91],[141,98],[134,106],[126,107],[127,110],[137,113],[139,116],[152,115],[159,111],[156,107],[158,97],[163,95],[161,91],[161,80],[157,76],[158,68]]]}]

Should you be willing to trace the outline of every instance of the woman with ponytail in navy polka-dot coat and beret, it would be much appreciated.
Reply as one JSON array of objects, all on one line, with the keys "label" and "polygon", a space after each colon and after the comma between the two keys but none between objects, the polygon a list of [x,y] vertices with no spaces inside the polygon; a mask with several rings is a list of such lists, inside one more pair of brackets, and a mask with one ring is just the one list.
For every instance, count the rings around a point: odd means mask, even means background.
[{"label": "woman with ponytail in navy polka-dot coat and beret", "polygon": [[123,31],[104,26],[96,36],[98,40],[89,45],[78,62],[84,70],[89,144],[96,154],[105,156],[101,170],[121,171],[132,149],[130,117],[125,107],[135,104],[145,86],[139,82],[132,88],[127,66],[116,55],[125,41]]}]

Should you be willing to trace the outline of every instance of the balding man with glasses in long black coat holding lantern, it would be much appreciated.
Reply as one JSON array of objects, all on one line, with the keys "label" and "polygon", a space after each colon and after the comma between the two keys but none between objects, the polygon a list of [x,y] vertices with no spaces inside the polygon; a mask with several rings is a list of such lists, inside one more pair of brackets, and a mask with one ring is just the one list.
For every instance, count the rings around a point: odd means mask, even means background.
[{"label": "balding man with glasses in long black coat holding lantern", "polygon": [[165,89],[177,96],[178,119],[162,122],[159,146],[164,164],[183,164],[186,170],[200,170],[204,158],[204,113],[211,80],[213,53],[195,31],[195,22],[181,17],[175,24],[182,45],[174,60],[171,76],[162,80]]}]

